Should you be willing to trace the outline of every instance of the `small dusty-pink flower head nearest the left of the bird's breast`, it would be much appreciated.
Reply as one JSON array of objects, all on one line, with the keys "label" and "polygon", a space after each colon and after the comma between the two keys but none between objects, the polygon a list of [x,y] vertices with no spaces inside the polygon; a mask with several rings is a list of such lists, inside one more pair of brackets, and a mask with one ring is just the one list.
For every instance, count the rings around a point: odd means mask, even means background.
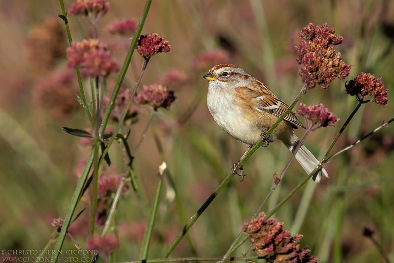
[{"label": "small dusty-pink flower head nearest the left of the bird's breast", "polygon": [[144,86],[143,90],[135,95],[134,101],[139,104],[148,104],[156,111],[160,107],[169,110],[175,98],[173,90],[168,90],[166,86],[160,84],[153,84]]}]

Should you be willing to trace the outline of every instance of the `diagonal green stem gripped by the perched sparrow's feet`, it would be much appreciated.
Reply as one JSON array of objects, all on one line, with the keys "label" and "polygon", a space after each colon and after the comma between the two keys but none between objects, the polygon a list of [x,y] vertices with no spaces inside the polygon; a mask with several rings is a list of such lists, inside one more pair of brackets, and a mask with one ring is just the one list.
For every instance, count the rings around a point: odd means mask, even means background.
[{"label": "diagonal green stem gripped by the perched sparrow's feet", "polygon": [[[296,103],[301,99],[303,96],[303,89],[300,90],[298,93],[296,99],[293,101],[293,103],[289,106],[289,108],[279,117],[279,119],[275,122],[275,124],[267,131],[266,136],[269,137],[269,135],[273,132],[273,130],[279,125],[279,123],[285,118],[285,116],[291,112],[291,110],[296,106]],[[262,145],[262,141],[257,143],[249,152],[246,154],[246,156],[240,161],[239,166],[243,166],[249,158],[252,156],[252,154]],[[316,171],[315,171],[316,172]],[[231,179],[234,177],[234,173],[230,173],[223,181],[222,183],[215,189],[215,191],[208,197],[208,199],[204,202],[204,204],[197,210],[197,212],[191,217],[189,222],[183,227],[182,231],[178,234],[178,236],[175,238],[175,240],[171,243],[171,245],[168,247],[168,249],[164,253],[164,258],[169,257],[169,255],[172,253],[172,251],[175,249],[175,247],[179,244],[179,242],[182,240],[182,238],[185,236],[187,231],[192,227],[192,225],[197,221],[199,216],[205,211],[205,209],[211,204],[211,202],[215,199],[215,197],[227,186],[227,184],[231,181]]]}]

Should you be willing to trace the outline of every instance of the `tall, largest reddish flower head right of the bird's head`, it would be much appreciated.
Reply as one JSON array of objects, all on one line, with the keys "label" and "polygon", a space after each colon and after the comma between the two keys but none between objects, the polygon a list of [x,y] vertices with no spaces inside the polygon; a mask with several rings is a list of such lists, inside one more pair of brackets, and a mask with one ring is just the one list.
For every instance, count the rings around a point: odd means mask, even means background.
[{"label": "tall, largest reddish flower head right of the bird's head", "polygon": [[335,78],[343,80],[349,75],[350,65],[331,46],[343,40],[333,28],[328,29],[326,23],[315,28],[310,23],[301,30],[299,36],[307,40],[302,41],[297,48],[297,62],[301,65],[299,75],[306,84],[306,90],[317,84],[326,89]]}]

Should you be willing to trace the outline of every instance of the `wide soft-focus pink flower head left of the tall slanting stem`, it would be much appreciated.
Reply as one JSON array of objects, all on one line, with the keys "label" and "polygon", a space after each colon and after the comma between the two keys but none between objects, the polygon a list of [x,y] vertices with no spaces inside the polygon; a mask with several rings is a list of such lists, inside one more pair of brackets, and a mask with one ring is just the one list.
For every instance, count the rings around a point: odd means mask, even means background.
[{"label": "wide soft-focus pink flower head left of the tall slanting stem", "polygon": [[106,77],[112,72],[119,71],[119,65],[112,60],[106,44],[97,39],[73,42],[67,48],[68,64],[70,68],[84,68],[90,77]]}]

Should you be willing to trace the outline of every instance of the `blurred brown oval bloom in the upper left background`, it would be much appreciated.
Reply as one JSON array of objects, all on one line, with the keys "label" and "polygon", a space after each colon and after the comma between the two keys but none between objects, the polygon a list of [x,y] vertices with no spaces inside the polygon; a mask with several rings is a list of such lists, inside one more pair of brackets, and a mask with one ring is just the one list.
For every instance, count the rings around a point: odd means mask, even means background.
[{"label": "blurred brown oval bloom in the upper left background", "polygon": [[66,37],[55,18],[47,18],[28,33],[24,51],[36,75],[53,70],[56,62],[66,56]]}]

